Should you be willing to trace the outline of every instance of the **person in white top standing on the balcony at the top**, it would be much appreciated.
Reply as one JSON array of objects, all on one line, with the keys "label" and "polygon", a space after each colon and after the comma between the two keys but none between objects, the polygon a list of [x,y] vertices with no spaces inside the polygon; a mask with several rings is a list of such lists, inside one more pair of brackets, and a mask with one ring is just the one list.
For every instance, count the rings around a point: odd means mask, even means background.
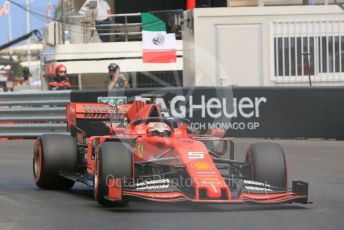
[{"label": "person in white top standing on the balcony at the top", "polygon": [[106,0],[86,0],[79,10],[79,14],[85,15],[88,9],[91,9],[92,3],[97,3],[96,6],[96,30],[98,32],[99,38],[102,42],[110,42],[110,35],[104,35],[104,33],[110,32],[109,25],[112,23],[111,8]]}]

